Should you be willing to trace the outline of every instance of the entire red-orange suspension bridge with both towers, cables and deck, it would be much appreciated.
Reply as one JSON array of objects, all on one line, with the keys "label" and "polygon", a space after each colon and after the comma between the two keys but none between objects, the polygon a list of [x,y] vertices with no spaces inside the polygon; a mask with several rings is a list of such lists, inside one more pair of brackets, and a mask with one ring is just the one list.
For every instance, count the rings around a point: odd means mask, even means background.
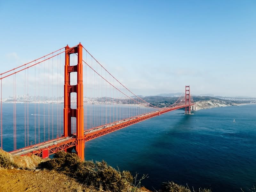
[{"label": "entire red-orange suspension bridge with both towers, cables and deck", "polygon": [[[75,150],[83,160],[86,141],[176,109],[185,108],[190,114],[194,105],[189,86],[172,105],[150,104],[118,81],[81,43],[0,76],[1,148],[13,143],[13,155],[47,158]],[[7,115],[7,110],[12,113]]]}]

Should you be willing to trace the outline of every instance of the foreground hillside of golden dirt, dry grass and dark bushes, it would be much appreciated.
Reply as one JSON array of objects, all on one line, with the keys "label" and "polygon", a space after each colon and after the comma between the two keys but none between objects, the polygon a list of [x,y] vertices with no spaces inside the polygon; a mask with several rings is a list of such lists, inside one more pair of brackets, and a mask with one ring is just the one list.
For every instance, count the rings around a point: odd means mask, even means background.
[{"label": "foreground hillside of golden dirt, dry grass and dark bushes", "polygon": [[[58,152],[45,161],[35,156],[14,157],[0,150],[0,191],[30,192],[152,192],[140,186],[130,172],[114,169],[106,162],[80,161],[76,154]],[[31,158],[31,160],[28,160]],[[20,161],[21,160],[21,161]],[[20,161],[20,162],[18,162]],[[21,163],[23,162],[23,164]],[[29,163],[30,162],[30,163]],[[41,162],[39,165],[38,163]],[[24,169],[20,169],[19,166]],[[36,165],[37,168],[28,169]],[[158,192],[191,192],[174,182],[163,183]],[[211,192],[199,189],[201,192]],[[193,192],[196,192],[193,189]]]}]

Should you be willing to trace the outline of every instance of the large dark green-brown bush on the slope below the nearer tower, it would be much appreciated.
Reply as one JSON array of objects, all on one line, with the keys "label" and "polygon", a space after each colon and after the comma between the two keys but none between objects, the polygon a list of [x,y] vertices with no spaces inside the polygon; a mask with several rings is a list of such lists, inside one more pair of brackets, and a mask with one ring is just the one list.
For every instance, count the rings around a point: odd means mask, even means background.
[{"label": "large dark green-brown bush on the slope below the nearer tower", "polygon": [[[76,154],[65,152],[58,152],[54,157],[39,164],[38,168],[63,172],[85,185],[102,188],[105,191],[131,191],[131,188],[134,188],[131,185],[133,177],[130,172],[120,172],[109,166],[105,161],[82,162]],[[133,191],[136,191],[135,188]]]}]

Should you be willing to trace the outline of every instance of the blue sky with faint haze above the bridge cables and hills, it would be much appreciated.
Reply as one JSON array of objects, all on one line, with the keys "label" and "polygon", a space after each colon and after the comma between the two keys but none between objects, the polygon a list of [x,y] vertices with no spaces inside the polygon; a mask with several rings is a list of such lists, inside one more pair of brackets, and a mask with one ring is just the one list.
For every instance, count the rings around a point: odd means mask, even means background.
[{"label": "blue sky with faint haze above the bridge cables and hills", "polygon": [[1,73],[81,42],[139,95],[256,97],[256,1],[0,1]]}]

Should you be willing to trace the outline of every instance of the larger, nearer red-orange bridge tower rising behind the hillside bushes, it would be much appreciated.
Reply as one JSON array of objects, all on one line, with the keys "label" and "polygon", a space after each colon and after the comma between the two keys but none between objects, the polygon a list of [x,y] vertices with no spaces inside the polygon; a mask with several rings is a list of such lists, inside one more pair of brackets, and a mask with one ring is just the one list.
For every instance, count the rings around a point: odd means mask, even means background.
[{"label": "larger, nearer red-orange bridge tower rising behind the hillside bushes", "polygon": [[[83,46],[65,47],[64,137],[71,137],[71,117],[76,117],[76,154],[84,160]],[[77,65],[70,66],[70,54],[77,53]],[[70,85],[70,73],[77,73],[77,84]],[[71,93],[76,93],[76,108],[71,108]],[[73,148],[68,148],[71,152]]]}]

